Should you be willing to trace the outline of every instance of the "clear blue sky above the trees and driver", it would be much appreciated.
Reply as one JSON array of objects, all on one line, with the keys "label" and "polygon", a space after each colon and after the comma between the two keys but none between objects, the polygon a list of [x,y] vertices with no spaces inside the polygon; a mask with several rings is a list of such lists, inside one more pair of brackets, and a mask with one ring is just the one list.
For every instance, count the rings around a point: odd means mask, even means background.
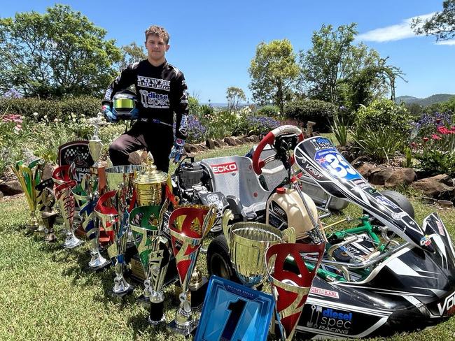
[{"label": "clear blue sky above the trees and driver", "polygon": [[[2,1],[0,17],[36,10],[55,1]],[[248,66],[261,41],[288,38],[295,51],[311,48],[311,34],[322,24],[358,24],[358,41],[389,57],[408,82],[396,94],[426,97],[455,94],[455,44],[414,36],[409,18],[442,10],[442,0],[228,0],[228,1],[62,1],[108,31],[117,45],[144,42],[151,24],[171,35],[167,59],[186,75],[190,94],[200,101],[225,102],[230,86],[247,96]],[[455,43],[455,42],[454,42]]]}]

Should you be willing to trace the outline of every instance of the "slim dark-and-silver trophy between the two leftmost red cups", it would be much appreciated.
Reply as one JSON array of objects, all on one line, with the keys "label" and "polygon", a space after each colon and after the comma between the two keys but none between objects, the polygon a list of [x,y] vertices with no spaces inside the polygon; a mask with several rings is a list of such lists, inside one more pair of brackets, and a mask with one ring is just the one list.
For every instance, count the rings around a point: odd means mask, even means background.
[{"label": "slim dark-and-silver trophy between the two leftmost red cups", "polygon": [[73,189],[73,196],[80,207],[79,217],[82,219],[82,227],[89,240],[90,261],[88,266],[92,270],[100,270],[111,263],[100,254],[98,247],[99,218],[94,213],[94,206],[98,201],[97,187],[97,177],[85,174],[80,185]]}]

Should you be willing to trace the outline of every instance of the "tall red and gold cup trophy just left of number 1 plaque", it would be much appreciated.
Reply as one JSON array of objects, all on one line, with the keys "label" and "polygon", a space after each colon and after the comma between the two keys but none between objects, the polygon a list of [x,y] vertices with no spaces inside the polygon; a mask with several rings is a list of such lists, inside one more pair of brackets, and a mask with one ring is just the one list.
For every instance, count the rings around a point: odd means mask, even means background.
[{"label": "tall red and gold cup trophy just left of number 1 plaque", "polygon": [[169,217],[172,251],[176,258],[182,287],[180,305],[169,328],[175,333],[189,335],[197,326],[191,309],[190,279],[196,265],[202,240],[209,233],[216,218],[216,208],[203,205],[184,205]]}]

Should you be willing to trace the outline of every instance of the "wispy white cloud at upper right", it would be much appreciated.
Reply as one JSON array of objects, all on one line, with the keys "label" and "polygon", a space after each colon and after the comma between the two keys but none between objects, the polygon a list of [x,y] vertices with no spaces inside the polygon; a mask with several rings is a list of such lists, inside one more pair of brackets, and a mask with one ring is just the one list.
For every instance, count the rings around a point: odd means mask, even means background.
[{"label": "wispy white cloud at upper right", "polygon": [[383,43],[385,41],[400,41],[406,38],[412,38],[416,36],[414,31],[411,29],[412,20],[420,17],[422,20],[426,20],[431,17],[433,13],[424,15],[417,15],[415,17],[409,17],[409,19],[402,20],[400,24],[395,24],[387,27],[381,27],[380,29],[372,29],[363,34],[359,34],[356,37],[358,41],[377,41]]}]

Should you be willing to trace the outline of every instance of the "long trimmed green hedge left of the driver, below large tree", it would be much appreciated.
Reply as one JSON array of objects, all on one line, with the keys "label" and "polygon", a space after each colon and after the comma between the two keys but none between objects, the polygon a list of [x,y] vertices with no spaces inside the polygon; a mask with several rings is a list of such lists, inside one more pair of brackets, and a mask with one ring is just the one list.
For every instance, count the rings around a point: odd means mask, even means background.
[{"label": "long trimmed green hedge left of the driver, below large tree", "polygon": [[25,117],[33,117],[33,113],[38,113],[38,119],[45,115],[52,121],[53,119],[68,119],[73,113],[76,117],[96,116],[101,109],[101,101],[97,97],[80,96],[68,97],[66,99],[0,99],[0,114],[19,114]]}]

